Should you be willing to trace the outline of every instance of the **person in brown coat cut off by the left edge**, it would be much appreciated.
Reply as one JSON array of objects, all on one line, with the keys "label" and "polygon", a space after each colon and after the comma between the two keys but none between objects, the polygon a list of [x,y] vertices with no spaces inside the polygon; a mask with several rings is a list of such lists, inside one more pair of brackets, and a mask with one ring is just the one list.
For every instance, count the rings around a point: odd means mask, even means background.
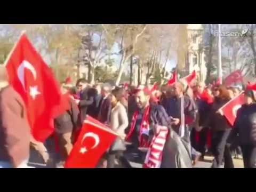
[{"label": "person in brown coat cut off by the left edge", "polygon": [[30,127],[21,96],[8,84],[0,67],[0,168],[27,167]]}]

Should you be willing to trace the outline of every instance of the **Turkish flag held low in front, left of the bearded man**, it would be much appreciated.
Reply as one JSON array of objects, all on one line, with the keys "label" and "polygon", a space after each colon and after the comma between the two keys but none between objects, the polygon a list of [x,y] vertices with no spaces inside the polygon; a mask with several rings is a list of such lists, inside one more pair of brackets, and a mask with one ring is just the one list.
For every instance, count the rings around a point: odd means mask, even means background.
[{"label": "Turkish flag held low in front, left of the bearded man", "polygon": [[94,168],[117,134],[92,117],[87,117],[65,168]]}]

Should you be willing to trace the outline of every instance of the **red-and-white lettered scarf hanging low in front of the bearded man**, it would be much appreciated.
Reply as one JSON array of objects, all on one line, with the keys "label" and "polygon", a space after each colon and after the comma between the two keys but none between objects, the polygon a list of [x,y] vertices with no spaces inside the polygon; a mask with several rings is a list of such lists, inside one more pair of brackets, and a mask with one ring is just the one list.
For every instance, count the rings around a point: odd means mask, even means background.
[{"label": "red-and-white lettered scarf hanging low in front of the bearded man", "polygon": [[159,130],[151,142],[143,168],[160,168],[162,164],[163,149],[168,135],[165,126],[157,125]]}]

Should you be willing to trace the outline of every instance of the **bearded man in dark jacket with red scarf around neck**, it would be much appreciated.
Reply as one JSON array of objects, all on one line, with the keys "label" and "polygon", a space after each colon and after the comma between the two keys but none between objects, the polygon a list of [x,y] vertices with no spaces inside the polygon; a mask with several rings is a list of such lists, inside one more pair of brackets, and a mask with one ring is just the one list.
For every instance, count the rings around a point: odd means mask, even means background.
[{"label": "bearded man in dark jacket with red scarf around neck", "polygon": [[147,88],[136,90],[134,94],[139,110],[133,114],[126,140],[130,140],[132,136],[135,136],[133,138],[136,140],[133,140],[133,144],[137,148],[148,148],[150,147],[151,139],[156,136],[155,127],[165,126],[168,129],[168,134],[164,138],[164,147],[160,151],[162,158],[158,167],[191,167],[189,145],[172,130],[170,119],[164,108],[161,105],[157,105],[157,103],[149,103],[150,91]]}]

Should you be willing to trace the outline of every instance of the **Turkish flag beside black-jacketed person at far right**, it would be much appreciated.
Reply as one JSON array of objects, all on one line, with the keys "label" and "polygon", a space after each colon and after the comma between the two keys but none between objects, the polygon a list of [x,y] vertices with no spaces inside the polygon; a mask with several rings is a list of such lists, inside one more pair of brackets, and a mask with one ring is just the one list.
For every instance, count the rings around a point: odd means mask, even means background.
[{"label": "Turkish flag beside black-jacketed person at far right", "polygon": [[237,110],[241,108],[241,106],[244,104],[244,94],[241,93],[234,99],[230,100],[226,105],[221,107],[220,113],[224,115],[228,122],[233,126],[235,119],[236,119],[236,114]]}]

